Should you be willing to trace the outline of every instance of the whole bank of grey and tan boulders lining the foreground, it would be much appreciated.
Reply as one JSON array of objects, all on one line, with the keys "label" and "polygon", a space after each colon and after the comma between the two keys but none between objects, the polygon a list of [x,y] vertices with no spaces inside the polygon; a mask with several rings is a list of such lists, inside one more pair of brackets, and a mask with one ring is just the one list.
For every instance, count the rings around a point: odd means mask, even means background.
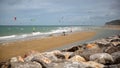
[{"label": "whole bank of grey and tan boulders lining the foreground", "polygon": [[64,50],[12,57],[1,68],[120,68],[120,35]]}]

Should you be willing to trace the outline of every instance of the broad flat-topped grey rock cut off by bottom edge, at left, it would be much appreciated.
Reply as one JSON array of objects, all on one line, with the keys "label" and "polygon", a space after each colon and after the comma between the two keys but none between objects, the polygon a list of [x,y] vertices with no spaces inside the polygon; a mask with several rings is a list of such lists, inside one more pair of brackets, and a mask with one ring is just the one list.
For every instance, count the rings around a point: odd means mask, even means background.
[{"label": "broad flat-topped grey rock cut off by bottom edge, at left", "polygon": [[42,68],[42,66],[36,62],[14,62],[11,63],[11,68]]}]

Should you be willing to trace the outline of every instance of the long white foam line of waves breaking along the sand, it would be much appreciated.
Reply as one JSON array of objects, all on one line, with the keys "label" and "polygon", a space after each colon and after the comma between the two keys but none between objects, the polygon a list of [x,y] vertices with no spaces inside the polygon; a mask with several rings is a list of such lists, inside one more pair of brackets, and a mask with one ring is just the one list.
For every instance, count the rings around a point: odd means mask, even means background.
[{"label": "long white foam line of waves breaking along the sand", "polygon": [[0,41],[6,41],[6,40],[17,40],[17,39],[23,39],[23,38],[33,38],[36,36],[49,36],[50,34],[59,34],[62,32],[74,32],[74,31],[80,31],[82,30],[81,27],[59,27],[58,29],[51,30],[49,32],[32,32],[29,34],[21,34],[21,35],[10,35],[10,36],[2,36],[0,37]]}]

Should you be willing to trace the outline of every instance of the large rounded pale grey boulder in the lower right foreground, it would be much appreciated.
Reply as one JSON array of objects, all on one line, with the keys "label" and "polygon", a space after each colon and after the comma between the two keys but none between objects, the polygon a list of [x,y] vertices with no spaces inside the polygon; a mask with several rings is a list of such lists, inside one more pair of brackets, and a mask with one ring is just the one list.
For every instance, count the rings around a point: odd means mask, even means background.
[{"label": "large rounded pale grey boulder in the lower right foreground", "polygon": [[108,53],[96,53],[90,56],[90,61],[96,61],[102,64],[113,63],[113,58]]}]

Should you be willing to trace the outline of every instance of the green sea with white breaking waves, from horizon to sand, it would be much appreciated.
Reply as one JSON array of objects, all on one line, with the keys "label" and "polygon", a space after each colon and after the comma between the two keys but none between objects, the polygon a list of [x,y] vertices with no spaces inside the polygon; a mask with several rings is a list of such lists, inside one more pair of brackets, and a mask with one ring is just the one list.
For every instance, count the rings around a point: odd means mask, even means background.
[{"label": "green sea with white breaking waves, from horizon to sand", "polygon": [[89,31],[99,29],[99,26],[0,26],[0,43],[46,37],[51,34],[70,33],[76,31]]}]

